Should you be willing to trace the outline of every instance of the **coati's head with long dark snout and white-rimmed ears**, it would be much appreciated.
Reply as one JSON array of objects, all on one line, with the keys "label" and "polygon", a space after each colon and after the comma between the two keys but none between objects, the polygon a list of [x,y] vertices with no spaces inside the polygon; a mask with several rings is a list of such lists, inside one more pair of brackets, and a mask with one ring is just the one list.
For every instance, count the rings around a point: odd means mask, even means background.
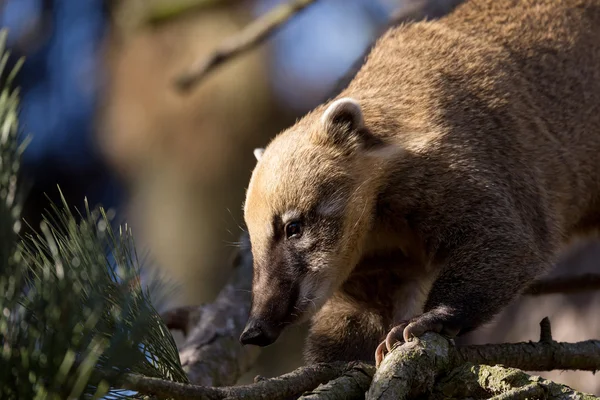
[{"label": "coati's head with long dark snout and white-rimmed ears", "polygon": [[240,337],[266,346],[311,317],[358,262],[390,144],[356,100],[341,98],[278,135],[258,160],[244,218],[254,257],[252,310]]}]

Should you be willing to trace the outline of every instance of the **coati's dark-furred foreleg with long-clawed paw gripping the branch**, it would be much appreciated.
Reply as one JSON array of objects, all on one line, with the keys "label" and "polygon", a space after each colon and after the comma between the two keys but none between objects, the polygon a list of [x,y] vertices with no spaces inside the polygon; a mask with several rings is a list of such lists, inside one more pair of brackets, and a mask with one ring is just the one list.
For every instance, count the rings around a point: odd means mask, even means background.
[{"label": "coati's dark-furred foreleg with long-clawed paw gripping the branch", "polygon": [[386,346],[393,346],[395,337],[408,341],[432,331],[452,338],[478,328],[548,270],[553,259],[550,237],[534,240],[524,235],[523,227],[506,232],[478,233],[452,249],[431,287],[425,313],[412,318],[402,337],[392,335]]}]

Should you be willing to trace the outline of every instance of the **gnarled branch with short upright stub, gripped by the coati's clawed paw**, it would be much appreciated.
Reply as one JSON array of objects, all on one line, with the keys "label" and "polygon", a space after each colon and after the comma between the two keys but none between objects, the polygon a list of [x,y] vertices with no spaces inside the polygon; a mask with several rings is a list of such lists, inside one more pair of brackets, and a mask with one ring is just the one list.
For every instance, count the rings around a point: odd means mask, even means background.
[{"label": "gnarled branch with short upright stub, gripped by the coati's clawed paw", "polygon": [[[408,399],[429,394],[439,376],[465,363],[502,364],[526,371],[600,369],[600,340],[558,343],[552,340],[548,318],[540,327],[537,343],[455,347],[440,335],[426,333],[386,355],[373,376],[367,399]],[[514,398],[523,393],[515,391]]]}]

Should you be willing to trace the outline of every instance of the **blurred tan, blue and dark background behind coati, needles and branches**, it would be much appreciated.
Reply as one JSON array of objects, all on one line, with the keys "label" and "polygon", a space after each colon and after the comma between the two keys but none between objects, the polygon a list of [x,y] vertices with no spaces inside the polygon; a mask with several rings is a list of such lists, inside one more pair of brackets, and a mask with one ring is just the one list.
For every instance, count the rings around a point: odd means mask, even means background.
[{"label": "blurred tan, blue and dark background behind coati, needles and branches", "polygon": [[[0,0],[32,137],[24,216],[37,227],[57,185],[69,204],[114,208],[133,228],[145,267],[178,285],[168,305],[211,301],[243,229],[241,204],[264,146],[332,94],[410,0],[322,0],[190,94],[173,79],[280,0]],[[449,3],[438,0],[438,3]],[[574,247],[556,273],[600,271],[600,246]],[[524,298],[465,342],[600,338],[600,294]],[[262,352],[256,374],[302,362],[306,327]],[[281,356],[285,354],[285,356]],[[600,394],[591,373],[542,373]]]}]

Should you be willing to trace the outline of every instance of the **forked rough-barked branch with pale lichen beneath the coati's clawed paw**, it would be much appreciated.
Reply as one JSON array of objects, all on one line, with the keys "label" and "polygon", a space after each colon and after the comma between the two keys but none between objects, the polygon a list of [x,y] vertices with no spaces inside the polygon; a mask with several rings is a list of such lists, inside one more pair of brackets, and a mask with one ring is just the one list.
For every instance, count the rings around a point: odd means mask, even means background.
[{"label": "forked rough-barked branch with pale lichen beneath the coati's clawed paw", "polygon": [[596,371],[600,367],[600,341],[555,342],[548,318],[542,320],[540,328],[537,343],[464,347],[455,347],[442,336],[427,333],[386,355],[373,377],[367,399],[596,398],[521,371]]}]

